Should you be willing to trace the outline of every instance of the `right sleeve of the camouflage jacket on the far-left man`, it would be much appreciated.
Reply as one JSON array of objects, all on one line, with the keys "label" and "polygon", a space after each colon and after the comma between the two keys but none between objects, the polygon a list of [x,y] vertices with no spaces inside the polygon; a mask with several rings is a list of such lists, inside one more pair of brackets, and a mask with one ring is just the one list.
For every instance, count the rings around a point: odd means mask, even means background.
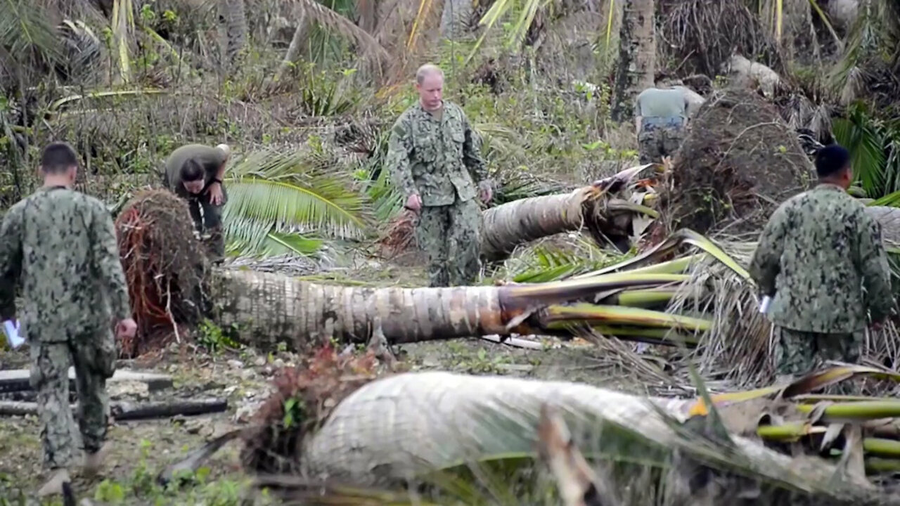
[{"label": "right sleeve of the camouflage jacket on the far-left man", "polygon": [[115,321],[131,317],[131,306],[128,298],[128,285],[119,259],[119,245],[115,239],[115,226],[112,217],[103,205],[94,206],[94,219],[91,222],[92,247],[94,248],[94,267],[100,274],[101,283],[109,297],[112,317]]}]

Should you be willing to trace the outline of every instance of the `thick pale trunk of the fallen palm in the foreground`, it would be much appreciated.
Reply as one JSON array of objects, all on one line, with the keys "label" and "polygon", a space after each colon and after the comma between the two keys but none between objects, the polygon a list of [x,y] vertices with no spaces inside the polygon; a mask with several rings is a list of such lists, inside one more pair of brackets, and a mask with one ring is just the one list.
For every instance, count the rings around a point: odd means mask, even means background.
[{"label": "thick pale trunk of the fallen palm in the foreground", "polygon": [[[280,398],[275,401],[284,405]],[[273,425],[259,429],[258,434],[247,430],[242,435],[242,458],[247,471],[254,474],[278,472],[266,467],[277,456],[276,465],[291,459],[297,466],[293,469],[307,483],[402,486],[467,464],[534,457],[540,414],[548,406],[571,429],[573,445],[590,449],[595,456],[611,456],[612,465],[616,465],[617,455],[626,452],[626,461],[631,458],[632,463],[672,466],[673,475],[684,478],[682,469],[670,460],[681,456],[681,462],[697,459],[698,466],[731,471],[767,488],[840,499],[826,501],[829,504],[874,504],[876,498],[879,504],[898,503],[896,495],[848,483],[835,473],[835,465],[822,458],[786,456],[765,447],[759,438],[743,436],[745,431],[753,433],[756,419],[742,422],[748,415],[736,403],[723,408],[726,418],[738,417],[725,425],[731,433],[723,441],[700,443],[685,432],[697,427],[698,421],[704,423],[705,415],[694,414],[698,409],[694,400],[638,397],[569,382],[446,372],[406,373],[362,384],[339,400],[321,425],[314,420],[294,420],[296,423],[285,427],[275,423],[284,418],[281,411],[266,412]],[[751,409],[754,407],[759,406]],[[743,426],[750,429],[734,429]],[[264,434],[265,438],[259,438]],[[293,444],[266,446],[275,441]],[[208,446],[221,444],[216,439]],[[208,457],[211,452],[200,448],[186,460],[194,461],[196,455]],[[771,503],[795,502],[781,497]]]}]

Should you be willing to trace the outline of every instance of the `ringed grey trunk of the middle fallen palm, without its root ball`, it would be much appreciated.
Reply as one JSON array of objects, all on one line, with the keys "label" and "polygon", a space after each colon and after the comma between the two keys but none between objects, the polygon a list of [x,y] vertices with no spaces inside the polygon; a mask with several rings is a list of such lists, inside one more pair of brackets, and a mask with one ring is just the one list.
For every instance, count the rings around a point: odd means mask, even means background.
[{"label": "ringed grey trunk of the middle fallen palm, without its root ball", "polygon": [[[216,301],[213,320],[222,328],[238,329],[242,339],[260,348],[282,341],[302,348],[331,338],[365,342],[374,332],[382,332],[392,343],[491,334],[566,336],[572,335],[570,325],[579,324],[702,332],[708,321],[639,307],[585,303],[566,309],[567,303],[590,300],[605,291],[678,285],[687,279],[617,273],[545,285],[368,288],[220,270],[214,271],[211,296]],[[652,334],[653,342],[664,338],[663,333]],[[624,332],[623,337],[629,336],[640,337]]]}]

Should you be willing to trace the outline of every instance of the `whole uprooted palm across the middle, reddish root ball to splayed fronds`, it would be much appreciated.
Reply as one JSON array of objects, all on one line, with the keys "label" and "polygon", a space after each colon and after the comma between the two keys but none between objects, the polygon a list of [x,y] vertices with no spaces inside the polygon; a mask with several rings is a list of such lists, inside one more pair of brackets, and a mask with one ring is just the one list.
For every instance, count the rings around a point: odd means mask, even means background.
[{"label": "whole uprooted palm across the middle, reddish root ball to splayed fronds", "polygon": [[[128,252],[123,265],[137,276],[130,278],[136,317],[155,315],[147,316],[155,324],[141,326],[142,332],[171,329],[184,322],[171,308],[191,307],[202,308],[202,316],[238,330],[240,339],[259,348],[278,342],[306,348],[330,338],[365,342],[374,334],[389,342],[491,334],[564,337],[590,328],[608,337],[698,347],[701,366],[728,363],[728,374],[740,382],[771,374],[769,323],[757,310],[756,290],[743,267],[752,243],[722,242],[728,255],[683,230],[638,257],[599,270],[557,266],[563,268],[554,268],[554,276],[542,279],[547,283],[537,284],[371,288],[207,268],[198,275],[202,283],[180,285],[190,277],[173,273],[198,272],[180,258],[202,258],[189,252],[199,248],[190,228],[170,222],[178,219],[172,210],[183,207],[174,195],[151,192],[136,197],[118,221],[120,248]],[[883,218],[897,214],[892,208],[869,210],[885,211]],[[161,230],[165,239],[159,239]],[[179,233],[186,237],[172,237]],[[174,249],[161,247],[164,243],[187,252],[174,255]],[[166,258],[170,255],[174,258]],[[196,301],[198,285],[206,286],[206,304]],[[890,335],[871,339],[870,354],[890,357]],[[896,357],[891,360],[896,363]]]}]

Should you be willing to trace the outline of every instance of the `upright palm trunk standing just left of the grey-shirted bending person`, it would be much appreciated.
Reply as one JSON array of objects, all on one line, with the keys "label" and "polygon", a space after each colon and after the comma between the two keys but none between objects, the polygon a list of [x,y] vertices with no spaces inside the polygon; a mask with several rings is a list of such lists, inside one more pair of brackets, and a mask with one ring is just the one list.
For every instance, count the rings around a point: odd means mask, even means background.
[{"label": "upright palm trunk standing just left of the grey-shirted bending person", "polygon": [[626,0],[619,30],[619,59],[616,71],[612,119],[624,122],[631,117],[635,96],[652,87],[656,72],[655,2]]}]

